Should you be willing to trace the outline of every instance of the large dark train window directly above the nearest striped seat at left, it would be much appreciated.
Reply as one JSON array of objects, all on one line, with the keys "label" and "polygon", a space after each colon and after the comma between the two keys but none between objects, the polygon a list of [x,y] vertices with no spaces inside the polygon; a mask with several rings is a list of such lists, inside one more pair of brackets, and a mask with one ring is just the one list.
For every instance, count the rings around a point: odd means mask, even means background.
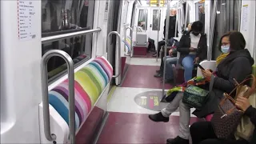
[{"label": "large dark train window directly above the nearest striped seat at left", "polygon": [[[42,38],[90,30],[94,22],[95,0],[42,0]],[[92,34],[42,44],[42,55],[48,50],[64,50],[73,58],[75,66],[91,58]],[[62,58],[50,58],[48,78],[66,74],[66,62]]]}]

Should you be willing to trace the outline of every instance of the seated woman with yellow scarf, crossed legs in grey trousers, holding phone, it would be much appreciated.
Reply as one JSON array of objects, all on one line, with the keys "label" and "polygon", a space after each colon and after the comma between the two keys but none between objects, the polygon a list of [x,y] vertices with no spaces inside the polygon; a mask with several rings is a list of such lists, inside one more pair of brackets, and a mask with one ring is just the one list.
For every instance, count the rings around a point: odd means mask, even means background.
[{"label": "seated woman with yellow scarf, crossed legs in grey trousers, holding phone", "polygon": [[[211,73],[210,70],[202,70],[203,76],[209,82],[213,82],[213,89],[209,92],[202,110],[194,111],[193,114],[198,118],[213,114],[218,107],[220,99],[222,99],[223,93],[229,94],[231,90],[234,90],[236,84],[234,79],[240,83],[252,71],[254,59],[251,57],[250,52],[245,49],[246,41],[240,32],[233,31],[224,34],[219,46],[223,53],[230,52],[230,54],[219,63],[215,74]],[[179,107],[179,134],[176,138],[167,139],[168,144],[189,144],[191,107],[184,104],[182,98],[183,93],[178,93],[174,100],[160,113],[149,115],[149,118],[154,122],[169,122],[170,114]]]}]

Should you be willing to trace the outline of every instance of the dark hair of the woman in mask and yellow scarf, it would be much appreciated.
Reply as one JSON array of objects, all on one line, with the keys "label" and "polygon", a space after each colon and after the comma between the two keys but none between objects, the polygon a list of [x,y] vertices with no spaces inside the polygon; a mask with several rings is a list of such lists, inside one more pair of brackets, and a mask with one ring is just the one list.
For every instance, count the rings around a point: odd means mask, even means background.
[{"label": "dark hair of the woman in mask and yellow scarf", "polygon": [[230,50],[237,51],[237,50],[244,50],[246,48],[246,40],[243,37],[242,33],[239,31],[229,31],[226,34],[222,35],[220,42],[218,44],[218,50],[221,50],[222,47],[222,39],[225,37],[230,38]]}]

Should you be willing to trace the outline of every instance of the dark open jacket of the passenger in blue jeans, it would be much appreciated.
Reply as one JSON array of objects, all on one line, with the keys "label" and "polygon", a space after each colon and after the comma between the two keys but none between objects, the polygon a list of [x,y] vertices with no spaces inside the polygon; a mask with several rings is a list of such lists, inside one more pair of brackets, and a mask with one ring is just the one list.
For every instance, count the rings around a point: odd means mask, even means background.
[{"label": "dark open jacket of the passenger in blue jeans", "polygon": [[[178,42],[177,50],[181,53],[179,58],[180,63],[182,63],[183,58],[190,54],[190,32],[183,34],[182,38]],[[207,37],[206,34],[201,34],[201,38],[198,43],[197,57],[202,61],[207,58]]]}]

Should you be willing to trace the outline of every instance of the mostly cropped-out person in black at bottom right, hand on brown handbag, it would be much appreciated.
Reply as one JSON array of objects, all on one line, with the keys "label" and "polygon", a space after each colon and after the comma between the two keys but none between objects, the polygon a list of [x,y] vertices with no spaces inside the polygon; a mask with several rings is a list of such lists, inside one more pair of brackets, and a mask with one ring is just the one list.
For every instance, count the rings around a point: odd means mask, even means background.
[{"label": "mostly cropped-out person in black at bottom right, hand on brown handbag", "polygon": [[[256,126],[256,109],[250,106],[250,102],[247,98],[238,97],[236,106],[245,111],[246,116],[250,118],[250,121]],[[193,144],[249,144],[245,139],[230,138],[227,140],[218,139],[214,134],[213,126],[211,122],[195,122],[190,126],[190,134]],[[256,143],[256,129],[254,128],[253,139],[250,140],[251,144]]]}]

